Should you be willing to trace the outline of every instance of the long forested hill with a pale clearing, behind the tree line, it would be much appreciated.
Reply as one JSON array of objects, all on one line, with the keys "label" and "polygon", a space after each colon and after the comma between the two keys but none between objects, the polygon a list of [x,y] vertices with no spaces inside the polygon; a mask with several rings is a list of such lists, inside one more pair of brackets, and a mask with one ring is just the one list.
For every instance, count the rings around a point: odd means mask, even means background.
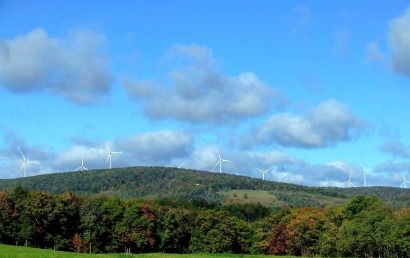
[{"label": "long forested hill with a pale clearing, behind the tree line", "polygon": [[46,174],[0,180],[0,190],[17,186],[53,194],[113,194],[121,198],[170,198],[212,203],[259,202],[266,206],[323,207],[355,195],[376,195],[396,208],[410,207],[410,189],[394,187],[306,187],[232,174],[171,167],[128,167]]}]

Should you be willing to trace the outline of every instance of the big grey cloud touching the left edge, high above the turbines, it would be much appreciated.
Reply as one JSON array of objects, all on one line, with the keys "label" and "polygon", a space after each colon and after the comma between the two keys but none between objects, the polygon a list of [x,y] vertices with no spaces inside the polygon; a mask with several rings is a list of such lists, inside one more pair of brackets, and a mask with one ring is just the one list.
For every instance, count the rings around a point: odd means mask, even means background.
[{"label": "big grey cloud touching the left edge, high above the turbines", "polygon": [[67,40],[35,29],[0,39],[0,86],[15,92],[48,91],[78,104],[96,104],[110,89],[112,76],[105,38],[76,31]]}]

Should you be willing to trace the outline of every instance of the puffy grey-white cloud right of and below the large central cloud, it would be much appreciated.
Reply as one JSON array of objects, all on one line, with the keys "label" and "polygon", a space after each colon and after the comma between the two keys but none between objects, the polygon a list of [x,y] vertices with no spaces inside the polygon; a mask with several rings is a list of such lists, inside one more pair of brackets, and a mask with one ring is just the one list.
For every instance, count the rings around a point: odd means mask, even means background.
[{"label": "puffy grey-white cloud right of and below the large central cloud", "polygon": [[336,100],[319,104],[304,115],[290,113],[272,116],[253,134],[253,141],[286,147],[319,148],[349,141],[364,128],[364,122]]}]

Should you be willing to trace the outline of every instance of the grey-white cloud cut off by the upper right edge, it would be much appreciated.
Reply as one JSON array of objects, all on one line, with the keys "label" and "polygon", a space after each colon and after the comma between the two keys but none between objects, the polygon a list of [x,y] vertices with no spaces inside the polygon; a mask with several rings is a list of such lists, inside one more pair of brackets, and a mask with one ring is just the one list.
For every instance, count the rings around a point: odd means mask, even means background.
[{"label": "grey-white cloud cut off by the upper right edge", "polygon": [[393,70],[410,76],[410,8],[390,22],[389,44]]}]

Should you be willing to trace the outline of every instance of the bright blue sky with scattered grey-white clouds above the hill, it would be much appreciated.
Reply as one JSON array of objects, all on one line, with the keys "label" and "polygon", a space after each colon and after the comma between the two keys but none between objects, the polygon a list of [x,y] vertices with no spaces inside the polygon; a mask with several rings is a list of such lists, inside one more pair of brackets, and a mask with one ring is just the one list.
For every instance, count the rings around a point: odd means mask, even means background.
[{"label": "bright blue sky with scattered grey-white clouds above the hill", "polygon": [[224,173],[400,187],[409,90],[408,1],[0,0],[1,179],[109,148],[113,168],[219,173],[219,152]]}]

